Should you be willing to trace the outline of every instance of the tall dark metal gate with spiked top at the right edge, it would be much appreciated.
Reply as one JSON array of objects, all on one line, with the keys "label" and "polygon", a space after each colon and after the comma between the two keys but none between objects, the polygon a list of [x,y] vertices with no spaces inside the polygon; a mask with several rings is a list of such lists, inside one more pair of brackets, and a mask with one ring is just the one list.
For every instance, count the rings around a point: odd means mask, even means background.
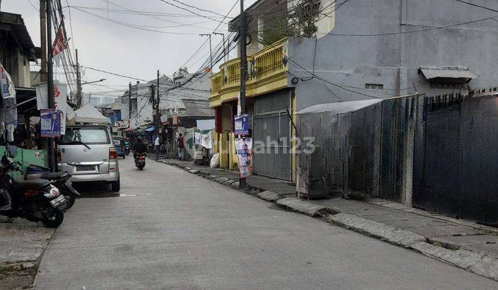
[{"label": "tall dark metal gate with spiked top at the right edge", "polygon": [[497,100],[425,98],[416,132],[414,206],[498,224]]}]

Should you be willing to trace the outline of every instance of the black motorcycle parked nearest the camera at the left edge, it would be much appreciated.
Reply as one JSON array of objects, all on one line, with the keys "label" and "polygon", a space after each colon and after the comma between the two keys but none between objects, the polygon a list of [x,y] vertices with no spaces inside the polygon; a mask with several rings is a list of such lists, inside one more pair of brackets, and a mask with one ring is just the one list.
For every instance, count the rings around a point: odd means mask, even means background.
[{"label": "black motorcycle parked nearest the camera at the left edge", "polygon": [[64,221],[66,198],[48,180],[15,181],[10,173],[19,171],[19,163],[4,155],[0,161],[0,215],[25,218],[56,228]]}]

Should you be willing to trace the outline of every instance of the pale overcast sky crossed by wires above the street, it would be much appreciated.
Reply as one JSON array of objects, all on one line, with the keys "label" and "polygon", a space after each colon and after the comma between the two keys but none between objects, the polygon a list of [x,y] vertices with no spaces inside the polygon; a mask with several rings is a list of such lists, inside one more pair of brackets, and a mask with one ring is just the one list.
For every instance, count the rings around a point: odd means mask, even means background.
[{"label": "pale overcast sky crossed by wires above the street", "polygon": [[[181,6],[180,3],[173,0],[166,1]],[[223,15],[235,3],[232,0],[181,1],[188,5],[212,10]],[[255,1],[246,0],[244,3],[248,7]],[[66,16],[68,37],[71,37],[70,48],[73,50],[74,44],[74,48],[78,49],[80,64],[82,66],[116,72],[139,79],[154,79],[158,69],[161,74],[172,75],[174,71],[178,70],[194,54],[205,40],[199,34],[212,32],[219,24],[218,21],[196,16],[164,3],[161,0],[61,0],[61,2]],[[212,19],[221,20],[221,17],[216,14],[183,7]],[[40,46],[38,8],[38,0],[1,1],[2,11],[22,15],[35,46]],[[109,8],[109,13],[107,8]],[[176,15],[165,16],[163,14],[155,14],[147,16],[112,11],[126,11],[127,9]],[[237,3],[237,6],[230,13],[230,17],[237,16],[239,10],[239,4]],[[71,21],[69,17],[70,12]],[[178,14],[181,14],[181,16],[178,16]],[[140,26],[145,30],[130,28],[122,24],[113,23],[112,21]],[[192,26],[182,26],[183,24],[190,24]],[[165,28],[165,26],[177,27]],[[174,32],[175,34],[146,30]],[[217,32],[226,31],[227,26],[221,24]],[[221,36],[213,36],[213,46],[219,41],[221,41]],[[209,46],[206,45],[187,64],[189,71],[194,72],[198,70],[208,57]],[[59,79],[62,78],[62,75],[57,76]],[[84,70],[83,81],[94,81],[101,78],[105,78],[107,81],[100,83],[100,86],[86,85],[84,86],[84,91],[92,93],[110,92],[115,89],[124,89],[128,82],[131,81],[131,79],[116,77],[89,69]]]}]

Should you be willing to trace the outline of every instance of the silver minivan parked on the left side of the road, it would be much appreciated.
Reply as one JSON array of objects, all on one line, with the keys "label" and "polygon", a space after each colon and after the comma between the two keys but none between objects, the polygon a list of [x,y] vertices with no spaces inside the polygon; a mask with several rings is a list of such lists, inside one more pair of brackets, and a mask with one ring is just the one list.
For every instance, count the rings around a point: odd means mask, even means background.
[{"label": "silver minivan parked on the left side of the road", "polygon": [[109,127],[73,125],[57,142],[59,171],[73,174],[71,182],[107,182],[120,191],[118,155]]}]

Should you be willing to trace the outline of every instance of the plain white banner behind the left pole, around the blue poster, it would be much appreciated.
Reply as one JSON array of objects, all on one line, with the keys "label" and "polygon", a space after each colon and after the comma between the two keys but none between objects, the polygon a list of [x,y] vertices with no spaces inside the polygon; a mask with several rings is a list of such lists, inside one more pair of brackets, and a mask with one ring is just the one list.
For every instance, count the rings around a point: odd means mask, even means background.
[{"label": "plain white banner behind the left pole, around the blue poster", "polygon": [[[37,109],[51,109],[48,108],[48,86],[47,83],[42,83],[36,86],[37,92]],[[55,99],[54,109],[62,112],[60,119],[60,133],[66,134],[66,119],[67,119],[67,84],[62,84],[59,81],[54,81],[53,95]]]}]

